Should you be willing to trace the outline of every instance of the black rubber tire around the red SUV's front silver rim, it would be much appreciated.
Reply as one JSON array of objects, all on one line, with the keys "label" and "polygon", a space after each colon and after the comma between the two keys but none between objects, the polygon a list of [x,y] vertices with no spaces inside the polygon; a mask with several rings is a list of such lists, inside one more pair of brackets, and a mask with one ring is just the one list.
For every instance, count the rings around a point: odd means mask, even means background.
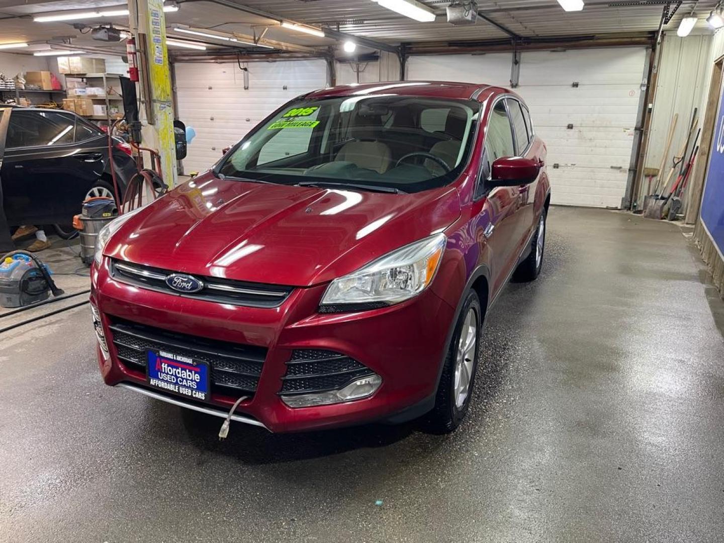
[{"label": "black rubber tire around the red SUV's front silver rim", "polygon": [[[466,326],[468,313],[473,311],[476,316],[474,356],[467,395],[461,405],[457,405],[458,397],[455,395],[455,366],[458,361],[458,345],[463,328]],[[483,311],[480,307],[480,300],[474,290],[468,290],[460,311],[458,320],[455,321],[455,330],[452,332],[450,348],[445,356],[445,365],[442,368],[440,382],[435,396],[435,407],[429,413],[426,420],[426,429],[434,434],[450,434],[460,426],[460,423],[468,413],[470,400],[475,385],[475,372],[478,368],[480,336],[483,322]]]}]

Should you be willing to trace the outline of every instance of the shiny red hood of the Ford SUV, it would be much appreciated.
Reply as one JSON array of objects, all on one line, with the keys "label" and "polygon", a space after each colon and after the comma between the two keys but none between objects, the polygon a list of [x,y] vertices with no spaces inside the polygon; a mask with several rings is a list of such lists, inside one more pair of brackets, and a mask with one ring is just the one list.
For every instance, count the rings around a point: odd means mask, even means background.
[{"label": "shiny red hood of the Ford SUV", "polygon": [[128,219],[104,253],[188,274],[310,286],[439,232],[458,216],[450,187],[371,193],[207,173]]}]

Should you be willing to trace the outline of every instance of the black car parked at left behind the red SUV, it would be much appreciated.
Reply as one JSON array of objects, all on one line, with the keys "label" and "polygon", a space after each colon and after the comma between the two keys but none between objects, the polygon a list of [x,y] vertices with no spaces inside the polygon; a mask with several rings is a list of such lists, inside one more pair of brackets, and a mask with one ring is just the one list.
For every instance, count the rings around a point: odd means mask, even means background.
[{"label": "black car parked at left behind the red SUV", "polygon": [[[55,109],[1,106],[0,114],[0,127],[7,127],[0,134],[0,181],[11,228],[55,224],[59,234],[70,235],[85,198],[113,197],[108,136],[96,125]],[[130,152],[127,143],[114,141],[121,195],[138,171]]]}]

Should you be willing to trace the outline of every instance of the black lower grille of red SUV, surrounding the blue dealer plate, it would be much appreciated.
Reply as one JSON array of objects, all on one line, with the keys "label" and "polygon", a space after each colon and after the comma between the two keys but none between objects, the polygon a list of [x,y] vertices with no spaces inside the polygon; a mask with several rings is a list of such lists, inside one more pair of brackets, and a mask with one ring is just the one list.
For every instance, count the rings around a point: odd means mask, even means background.
[{"label": "black lower grille of red SUV, surrounding the blue dealer plate", "polygon": [[129,369],[146,372],[146,350],[164,350],[206,362],[211,392],[227,396],[256,392],[266,348],[179,334],[111,317],[113,345]]}]

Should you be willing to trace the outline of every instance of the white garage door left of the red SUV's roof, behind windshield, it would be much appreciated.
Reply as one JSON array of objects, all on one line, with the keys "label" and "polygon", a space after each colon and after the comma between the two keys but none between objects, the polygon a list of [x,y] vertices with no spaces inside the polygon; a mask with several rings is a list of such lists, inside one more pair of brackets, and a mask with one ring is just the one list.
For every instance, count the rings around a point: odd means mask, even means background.
[{"label": "white garage door left of the red SUV's roof, behind windshield", "polygon": [[179,118],[196,131],[183,161],[185,172],[203,171],[261,119],[287,100],[327,86],[324,60],[248,62],[248,89],[236,63],[176,64]]}]

